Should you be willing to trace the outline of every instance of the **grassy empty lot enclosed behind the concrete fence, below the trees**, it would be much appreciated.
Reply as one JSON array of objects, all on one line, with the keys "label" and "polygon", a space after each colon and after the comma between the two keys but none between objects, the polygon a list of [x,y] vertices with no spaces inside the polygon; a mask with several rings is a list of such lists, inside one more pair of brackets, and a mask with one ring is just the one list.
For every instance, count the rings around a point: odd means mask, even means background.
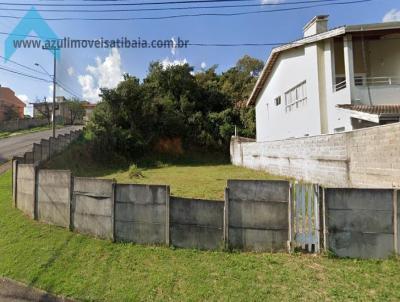
[{"label": "grassy empty lot enclosed behind the concrete fence, below the trees", "polygon": [[[137,177],[129,176],[129,166],[137,165]],[[75,176],[116,179],[119,183],[166,184],[181,197],[223,199],[228,179],[277,179],[262,171],[235,167],[220,154],[190,153],[177,158],[152,156],[128,164],[99,164],[87,158],[81,144],[74,144],[48,167],[70,169]]]}]

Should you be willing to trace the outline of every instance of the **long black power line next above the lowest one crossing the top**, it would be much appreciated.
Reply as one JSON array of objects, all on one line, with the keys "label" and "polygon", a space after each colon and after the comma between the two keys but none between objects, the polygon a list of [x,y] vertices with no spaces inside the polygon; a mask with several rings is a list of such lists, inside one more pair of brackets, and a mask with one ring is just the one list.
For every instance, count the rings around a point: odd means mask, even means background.
[{"label": "long black power line next above the lowest one crossing the top", "polygon": [[[236,4],[236,5],[213,5],[213,6],[184,6],[184,7],[158,7],[158,8],[119,8],[119,9],[65,9],[65,8],[51,8],[51,9],[36,9],[38,12],[56,12],[56,13],[115,13],[115,12],[143,12],[143,11],[174,11],[174,10],[194,10],[194,9],[221,9],[221,8],[243,8],[243,7],[267,7],[267,6],[287,6],[296,4],[309,4],[309,3],[333,3],[341,0],[309,0],[309,1],[293,1],[282,3],[257,3],[257,4]],[[2,11],[26,11],[26,8],[0,8]]]}]

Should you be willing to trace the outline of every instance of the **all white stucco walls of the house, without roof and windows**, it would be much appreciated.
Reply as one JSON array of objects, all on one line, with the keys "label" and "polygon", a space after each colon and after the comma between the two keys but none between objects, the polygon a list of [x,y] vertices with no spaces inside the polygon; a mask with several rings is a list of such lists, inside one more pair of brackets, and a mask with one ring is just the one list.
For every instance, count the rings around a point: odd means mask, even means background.
[{"label": "all white stucco walls of the house, without roof and windows", "polygon": [[[397,37],[397,36],[396,36]],[[336,91],[335,47],[333,39],[291,49],[280,54],[256,102],[257,141],[273,141],[353,130],[351,113],[337,105],[369,100],[366,87],[355,86],[354,74],[360,73],[360,42],[346,35],[337,48],[337,60],[344,60],[346,88]],[[372,76],[391,76],[400,80],[400,40],[368,43]],[[337,65],[337,64],[336,64]],[[343,66],[341,67],[343,69]],[[307,102],[286,112],[285,93],[307,82]],[[400,103],[400,85],[370,87],[373,104]],[[281,97],[281,105],[275,98]]]}]

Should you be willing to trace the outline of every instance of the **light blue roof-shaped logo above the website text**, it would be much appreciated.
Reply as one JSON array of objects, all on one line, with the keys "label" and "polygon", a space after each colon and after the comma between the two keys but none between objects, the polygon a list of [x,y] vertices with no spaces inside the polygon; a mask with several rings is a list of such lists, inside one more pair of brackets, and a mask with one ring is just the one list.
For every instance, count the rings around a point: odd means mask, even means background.
[{"label": "light blue roof-shaped logo above the website text", "polygon": [[[43,19],[43,17],[39,14],[35,7],[32,6],[5,41],[5,62],[7,62],[17,50],[14,41],[22,41],[26,39],[32,32],[36,34],[36,36],[42,41],[43,44],[45,44],[46,41],[49,40],[56,41],[59,39],[56,33],[51,29],[51,27],[47,24],[47,22]],[[59,58],[59,51],[55,51],[52,49],[49,49],[49,51],[52,54],[55,54],[57,59]]]}]

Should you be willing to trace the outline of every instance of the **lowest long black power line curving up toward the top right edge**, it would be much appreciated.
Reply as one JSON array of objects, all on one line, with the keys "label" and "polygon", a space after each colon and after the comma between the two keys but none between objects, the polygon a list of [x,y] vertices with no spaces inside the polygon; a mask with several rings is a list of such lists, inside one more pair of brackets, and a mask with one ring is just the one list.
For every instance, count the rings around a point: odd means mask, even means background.
[{"label": "lowest long black power line curving up toward the top right edge", "polygon": [[[205,17],[205,16],[215,16],[215,17],[232,17],[232,16],[244,16],[244,15],[256,15],[256,14],[267,14],[276,12],[288,12],[288,11],[298,11],[308,8],[315,7],[325,7],[325,6],[336,6],[336,5],[348,5],[356,3],[366,3],[373,0],[351,0],[344,2],[334,2],[325,4],[315,4],[306,5],[291,8],[281,8],[274,10],[257,10],[257,11],[245,11],[245,12],[233,12],[233,13],[196,13],[196,14],[182,14],[182,15],[169,15],[169,16],[149,16],[149,17],[125,17],[125,18],[84,18],[84,17],[58,17],[58,18],[26,18],[26,19],[41,19],[46,21],[136,21],[136,20],[166,20],[166,19],[177,19],[177,18],[188,18],[188,17]],[[22,16],[9,16],[2,15],[1,18],[8,19],[22,19]]]}]

